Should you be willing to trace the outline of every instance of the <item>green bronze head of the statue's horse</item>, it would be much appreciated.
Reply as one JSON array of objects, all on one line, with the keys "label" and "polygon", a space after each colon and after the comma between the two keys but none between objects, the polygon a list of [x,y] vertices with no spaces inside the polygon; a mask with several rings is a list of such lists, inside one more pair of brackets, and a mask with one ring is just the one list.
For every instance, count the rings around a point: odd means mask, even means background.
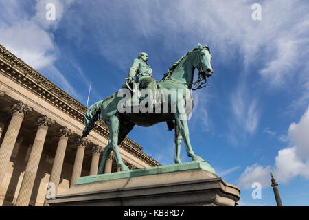
[{"label": "green bronze head of the statue's horse", "polygon": [[198,68],[198,74],[210,77],[214,70],[211,67],[210,61],[212,56],[207,45],[202,46],[198,43],[198,54],[194,60],[194,67]]}]

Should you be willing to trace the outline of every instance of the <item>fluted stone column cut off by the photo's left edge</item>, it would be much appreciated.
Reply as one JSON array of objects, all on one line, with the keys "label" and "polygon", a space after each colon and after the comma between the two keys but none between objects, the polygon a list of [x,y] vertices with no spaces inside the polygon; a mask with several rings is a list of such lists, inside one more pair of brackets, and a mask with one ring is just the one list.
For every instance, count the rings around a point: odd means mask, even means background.
[{"label": "fluted stone column cut off by the photo's left edge", "polygon": [[32,108],[21,101],[12,107],[13,116],[0,148],[0,186],[4,179],[5,170],[10,162],[19,129],[21,129],[21,122],[23,122],[23,117],[30,113],[30,111],[32,111]]}]

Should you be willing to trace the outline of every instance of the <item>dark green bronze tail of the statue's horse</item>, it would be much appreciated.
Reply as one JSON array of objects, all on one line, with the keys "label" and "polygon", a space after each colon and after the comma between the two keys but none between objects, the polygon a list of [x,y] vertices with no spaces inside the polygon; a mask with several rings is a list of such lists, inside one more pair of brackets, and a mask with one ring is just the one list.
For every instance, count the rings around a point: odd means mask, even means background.
[{"label": "dark green bronze tail of the statue's horse", "polygon": [[86,125],[84,131],[82,131],[82,137],[87,137],[89,132],[93,129],[95,122],[99,119],[101,115],[101,106],[104,100],[95,102],[91,105],[84,115],[84,124]]}]

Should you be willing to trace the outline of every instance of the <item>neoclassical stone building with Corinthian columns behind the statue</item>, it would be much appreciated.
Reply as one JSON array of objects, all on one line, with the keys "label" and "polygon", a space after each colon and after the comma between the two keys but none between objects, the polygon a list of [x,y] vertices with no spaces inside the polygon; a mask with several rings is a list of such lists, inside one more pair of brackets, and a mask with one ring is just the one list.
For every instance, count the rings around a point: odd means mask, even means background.
[{"label": "neoclassical stone building with Corinthian columns behind the statue", "polygon": [[[108,128],[82,137],[87,107],[0,45],[0,205],[44,206],[50,192],[97,174]],[[119,144],[130,169],[160,166],[130,138]],[[105,173],[119,171],[113,155]],[[47,193],[48,192],[48,193]]]}]

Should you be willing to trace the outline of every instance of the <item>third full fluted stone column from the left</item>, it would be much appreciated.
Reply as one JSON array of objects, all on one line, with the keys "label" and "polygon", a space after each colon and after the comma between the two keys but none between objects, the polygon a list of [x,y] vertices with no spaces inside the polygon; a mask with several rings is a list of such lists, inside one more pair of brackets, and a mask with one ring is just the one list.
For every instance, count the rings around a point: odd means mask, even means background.
[{"label": "third full fluted stone column from the left", "polygon": [[[58,186],[59,186],[63,161],[65,159],[65,150],[67,149],[67,141],[69,140],[69,136],[71,135],[73,135],[73,131],[71,131],[67,127],[60,129],[58,133],[58,136],[59,136],[58,146],[57,146],[56,155],[54,158],[52,173],[50,174],[50,177],[49,177],[49,184],[54,184],[55,195],[58,193]],[[48,206],[46,198],[44,201],[44,206]]]}]

